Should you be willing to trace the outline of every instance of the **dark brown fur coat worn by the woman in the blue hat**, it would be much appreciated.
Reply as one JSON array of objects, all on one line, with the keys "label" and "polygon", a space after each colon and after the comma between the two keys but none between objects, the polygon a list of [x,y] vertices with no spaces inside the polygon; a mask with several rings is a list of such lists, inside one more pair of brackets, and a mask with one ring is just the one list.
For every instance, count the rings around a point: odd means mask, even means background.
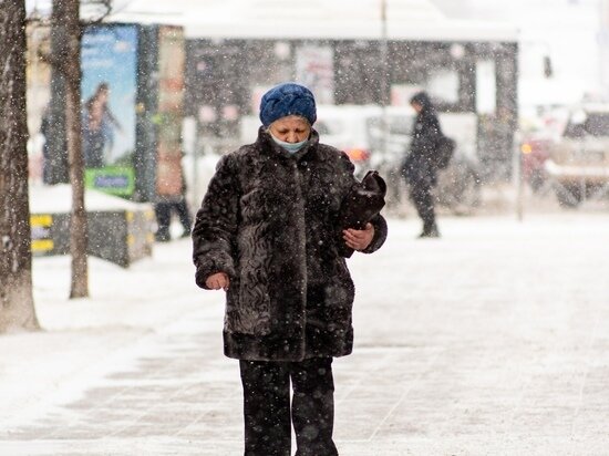
[{"label": "dark brown fur coat worn by the woman in the blue hat", "polygon": [[[349,354],[354,287],[337,226],[354,183],[347,155],[319,144],[290,155],[260,128],[255,144],[224,156],[193,229],[196,281],[230,278],[225,354],[241,360],[300,361]],[[374,238],[386,237],[382,216]]]}]

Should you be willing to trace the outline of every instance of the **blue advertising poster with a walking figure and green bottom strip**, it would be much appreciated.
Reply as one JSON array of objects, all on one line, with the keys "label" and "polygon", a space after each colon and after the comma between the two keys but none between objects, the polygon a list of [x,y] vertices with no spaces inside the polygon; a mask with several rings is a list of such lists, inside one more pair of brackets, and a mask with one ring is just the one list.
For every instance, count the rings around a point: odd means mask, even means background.
[{"label": "blue advertising poster with a walking figure and green bottom strip", "polygon": [[134,190],[137,25],[94,25],[82,39],[85,185],[128,197]]}]

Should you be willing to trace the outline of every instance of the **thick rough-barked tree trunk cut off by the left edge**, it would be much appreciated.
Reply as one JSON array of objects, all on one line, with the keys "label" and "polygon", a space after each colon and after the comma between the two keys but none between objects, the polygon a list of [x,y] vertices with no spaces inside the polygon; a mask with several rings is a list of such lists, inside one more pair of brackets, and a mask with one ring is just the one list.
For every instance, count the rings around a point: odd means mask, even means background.
[{"label": "thick rough-barked tree trunk cut off by the left edge", "polygon": [[25,2],[0,0],[0,332],[39,329],[32,296]]}]

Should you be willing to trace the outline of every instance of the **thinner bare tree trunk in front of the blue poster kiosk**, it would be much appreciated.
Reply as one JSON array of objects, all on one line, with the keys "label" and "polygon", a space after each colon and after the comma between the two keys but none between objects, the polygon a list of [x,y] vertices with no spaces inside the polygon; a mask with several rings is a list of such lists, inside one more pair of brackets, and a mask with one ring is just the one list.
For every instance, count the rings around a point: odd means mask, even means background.
[{"label": "thinner bare tree trunk in front of the blue poster kiosk", "polygon": [[81,37],[80,0],[54,0],[52,33],[63,37],[52,61],[65,80],[65,133],[72,185],[70,298],[89,296],[87,230],[84,207],[84,158],[81,142]]}]

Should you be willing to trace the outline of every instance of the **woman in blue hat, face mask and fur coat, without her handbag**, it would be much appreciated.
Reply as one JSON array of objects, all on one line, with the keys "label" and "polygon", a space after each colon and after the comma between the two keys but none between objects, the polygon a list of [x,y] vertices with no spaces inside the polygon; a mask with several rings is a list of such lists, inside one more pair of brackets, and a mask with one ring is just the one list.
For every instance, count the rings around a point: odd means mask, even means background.
[{"label": "woman in blue hat, face mask and fur coat, without her handbag", "polygon": [[338,226],[353,165],[319,143],[316,117],[307,87],[268,91],[257,141],[220,159],[193,229],[197,284],[226,291],[247,456],[289,456],[292,423],[297,455],[338,454],[331,363],[351,353],[354,298],[339,250],[370,253],[386,237],[380,215],[362,230]]}]

